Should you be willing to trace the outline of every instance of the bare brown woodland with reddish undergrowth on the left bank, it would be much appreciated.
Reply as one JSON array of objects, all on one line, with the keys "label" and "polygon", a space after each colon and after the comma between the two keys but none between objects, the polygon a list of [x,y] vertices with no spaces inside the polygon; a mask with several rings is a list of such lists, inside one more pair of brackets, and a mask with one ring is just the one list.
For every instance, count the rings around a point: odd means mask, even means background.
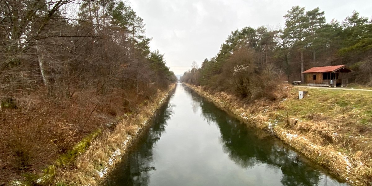
[{"label": "bare brown woodland with reddish undergrowth on the left bank", "polygon": [[144,27],[119,0],[0,1],[0,185],[177,80]]}]

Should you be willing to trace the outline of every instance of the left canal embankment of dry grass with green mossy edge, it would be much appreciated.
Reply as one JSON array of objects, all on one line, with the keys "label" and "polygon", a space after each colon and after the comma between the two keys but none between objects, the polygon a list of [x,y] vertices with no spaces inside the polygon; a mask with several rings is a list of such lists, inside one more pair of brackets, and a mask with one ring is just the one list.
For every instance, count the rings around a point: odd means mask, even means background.
[{"label": "left canal embankment of dry grass with green mossy edge", "polygon": [[94,186],[102,183],[174,88],[172,84],[168,90],[158,90],[155,99],[139,105],[140,112],[123,116],[112,131],[99,130],[87,136],[44,173],[29,174],[25,181],[13,181],[10,185]]}]

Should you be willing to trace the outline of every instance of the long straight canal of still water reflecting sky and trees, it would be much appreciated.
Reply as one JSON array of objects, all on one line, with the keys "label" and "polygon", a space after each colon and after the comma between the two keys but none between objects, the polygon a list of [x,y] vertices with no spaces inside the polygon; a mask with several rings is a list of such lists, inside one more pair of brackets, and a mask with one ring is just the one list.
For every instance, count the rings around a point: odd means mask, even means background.
[{"label": "long straight canal of still water reflecting sky and trees", "polygon": [[180,83],[106,185],[346,186]]}]

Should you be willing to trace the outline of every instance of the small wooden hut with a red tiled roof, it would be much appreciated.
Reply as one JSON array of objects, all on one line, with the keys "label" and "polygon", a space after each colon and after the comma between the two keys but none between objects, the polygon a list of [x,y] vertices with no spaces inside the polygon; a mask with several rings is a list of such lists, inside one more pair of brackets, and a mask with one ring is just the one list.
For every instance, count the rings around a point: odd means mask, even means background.
[{"label": "small wooden hut with a red tiled roof", "polygon": [[305,83],[308,86],[347,86],[348,73],[351,70],[347,69],[345,65],[327,66],[327,67],[313,67],[304,71]]}]

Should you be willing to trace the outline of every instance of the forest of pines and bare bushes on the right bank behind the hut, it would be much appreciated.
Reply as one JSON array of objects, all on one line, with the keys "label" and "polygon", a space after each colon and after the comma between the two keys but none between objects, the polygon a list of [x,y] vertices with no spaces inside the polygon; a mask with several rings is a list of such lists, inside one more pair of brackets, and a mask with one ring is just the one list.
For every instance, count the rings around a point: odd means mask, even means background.
[{"label": "forest of pines and bare bushes on the right bank behind the hut", "polygon": [[200,68],[193,62],[182,81],[250,100],[278,99],[283,81],[302,81],[311,67],[346,65],[349,82],[372,86],[372,20],[352,12],[326,23],[318,7],[294,6],[283,16],[285,26],[245,27],[232,31],[218,54]]}]

